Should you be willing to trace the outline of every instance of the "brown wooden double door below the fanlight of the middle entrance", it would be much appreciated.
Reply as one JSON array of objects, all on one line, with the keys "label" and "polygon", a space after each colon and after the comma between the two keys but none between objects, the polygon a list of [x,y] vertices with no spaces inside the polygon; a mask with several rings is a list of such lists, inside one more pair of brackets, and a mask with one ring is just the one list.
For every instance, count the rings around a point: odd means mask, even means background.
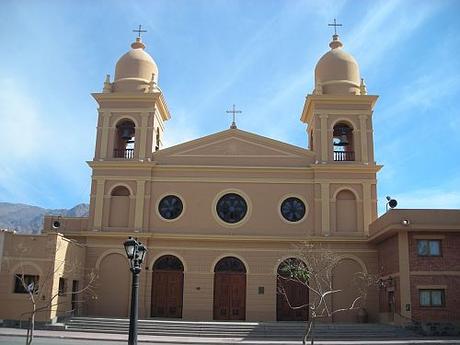
[{"label": "brown wooden double door below the fanlight of the middle entrance", "polygon": [[246,274],[214,275],[214,320],[246,319]]}]

